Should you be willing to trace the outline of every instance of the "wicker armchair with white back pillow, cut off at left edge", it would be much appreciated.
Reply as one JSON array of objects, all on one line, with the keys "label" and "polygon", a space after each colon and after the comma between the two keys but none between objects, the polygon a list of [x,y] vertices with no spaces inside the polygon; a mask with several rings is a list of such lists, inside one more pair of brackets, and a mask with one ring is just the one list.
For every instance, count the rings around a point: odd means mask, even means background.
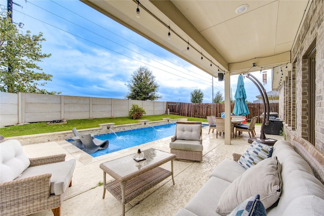
[{"label": "wicker armchair with white back pillow, cut off at left edge", "polygon": [[46,209],[60,215],[75,159],[65,161],[65,154],[27,158],[16,139],[0,143],[0,156],[0,215],[29,215]]}]

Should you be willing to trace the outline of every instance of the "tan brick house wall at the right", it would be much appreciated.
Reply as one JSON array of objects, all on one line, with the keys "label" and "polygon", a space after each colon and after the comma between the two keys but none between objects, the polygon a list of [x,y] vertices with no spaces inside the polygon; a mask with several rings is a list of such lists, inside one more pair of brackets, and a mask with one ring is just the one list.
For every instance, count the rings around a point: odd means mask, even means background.
[{"label": "tan brick house wall at the right", "polygon": [[[279,112],[285,121],[286,137],[308,139],[308,59],[307,53],[316,48],[315,66],[315,147],[324,153],[324,24],[323,1],[312,1],[292,49],[291,77],[280,88]],[[289,75],[288,75],[289,76]],[[291,80],[290,80],[291,79]],[[282,98],[285,97],[285,98]],[[287,101],[291,101],[288,104]],[[287,111],[287,112],[286,112]]]}]

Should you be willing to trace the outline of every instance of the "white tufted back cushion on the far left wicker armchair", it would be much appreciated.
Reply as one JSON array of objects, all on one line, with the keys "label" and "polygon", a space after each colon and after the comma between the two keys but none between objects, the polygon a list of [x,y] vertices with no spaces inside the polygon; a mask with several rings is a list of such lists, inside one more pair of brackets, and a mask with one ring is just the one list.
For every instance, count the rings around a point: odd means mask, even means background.
[{"label": "white tufted back cushion on the far left wicker armchair", "polygon": [[17,139],[10,139],[0,144],[0,183],[13,181],[29,164],[29,159],[24,155]]}]

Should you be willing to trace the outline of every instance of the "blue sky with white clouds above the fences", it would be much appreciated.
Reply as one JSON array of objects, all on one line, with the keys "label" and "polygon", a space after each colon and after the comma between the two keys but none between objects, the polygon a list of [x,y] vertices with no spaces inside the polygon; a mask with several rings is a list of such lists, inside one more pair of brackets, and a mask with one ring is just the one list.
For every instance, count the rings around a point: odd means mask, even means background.
[{"label": "blue sky with white clouds above the fences", "polygon": [[[20,32],[42,32],[42,52],[52,54],[38,62],[44,73],[53,75],[40,88],[61,95],[126,99],[132,74],[146,66],[159,85],[158,101],[190,102],[195,89],[204,92],[204,103],[212,102],[213,89],[214,96],[220,91],[224,97],[224,81],[214,78],[212,85],[211,75],[80,1],[14,3],[21,6],[13,5],[13,22],[24,24]],[[6,9],[7,1],[0,0],[0,5]],[[262,81],[259,71],[252,74]],[[237,79],[231,76],[232,99]],[[249,79],[244,82],[247,100],[257,100],[257,87]],[[271,70],[264,88],[271,91]]]}]

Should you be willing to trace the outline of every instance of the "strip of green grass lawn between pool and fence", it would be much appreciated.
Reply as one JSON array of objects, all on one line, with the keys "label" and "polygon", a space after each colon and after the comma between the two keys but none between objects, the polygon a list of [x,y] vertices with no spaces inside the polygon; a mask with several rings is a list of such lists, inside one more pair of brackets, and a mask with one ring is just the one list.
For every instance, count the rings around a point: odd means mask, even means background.
[{"label": "strip of green grass lawn between pool and fence", "polygon": [[[142,116],[139,120],[161,121],[163,118],[180,119],[187,118],[188,121],[199,121],[207,122],[207,119],[191,118],[178,115],[157,115],[157,116]],[[77,129],[87,129],[99,127],[99,124],[103,123],[115,123],[115,125],[134,124],[138,123],[138,120],[133,120],[129,117],[117,117],[117,118],[101,118],[101,119],[78,119],[78,120],[67,120],[66,124],[51,124],[47,122],[30,123],[25,125],[15,125],[0,128],[0,134],[4,137],[10,136],[21,136],[38,133],[51,133],[58,131],[72,130],[76,127]]]}]

